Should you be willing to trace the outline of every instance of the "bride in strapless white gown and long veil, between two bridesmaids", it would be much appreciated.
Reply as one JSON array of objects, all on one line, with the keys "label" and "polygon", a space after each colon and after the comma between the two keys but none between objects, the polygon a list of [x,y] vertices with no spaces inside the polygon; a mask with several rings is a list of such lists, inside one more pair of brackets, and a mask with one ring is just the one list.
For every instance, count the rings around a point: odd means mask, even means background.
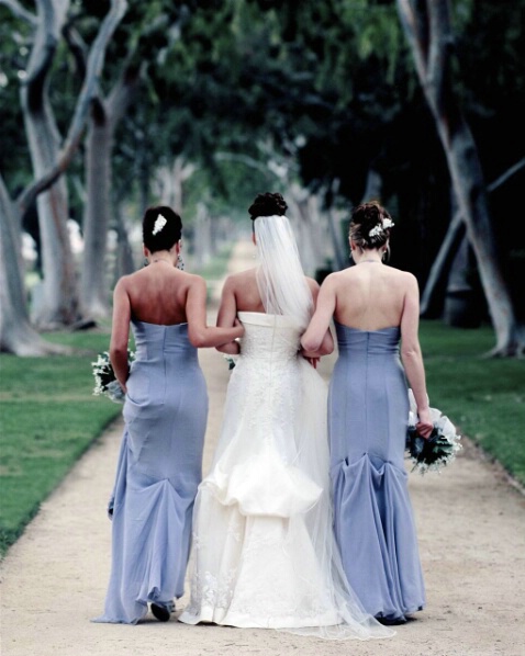
[{"label": "bride in strapless white gown and long veil, between two bridesmaids", "polygon": [[219,326],[245,328],[210,474],[199,486],[187,624],[272,627],[343,640],[393,631],[349,588],[332,532],[327,386],[300,352],[319,285],[304,276],[278,193],[249,207],[257,268],[231,275]]}]

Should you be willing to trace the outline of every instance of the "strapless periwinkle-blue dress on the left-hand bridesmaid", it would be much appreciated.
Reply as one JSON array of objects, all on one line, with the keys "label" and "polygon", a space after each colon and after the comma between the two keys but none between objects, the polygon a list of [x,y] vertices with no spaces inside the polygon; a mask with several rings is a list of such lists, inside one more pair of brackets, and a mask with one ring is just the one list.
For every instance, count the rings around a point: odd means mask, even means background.
[{"label": "strapless periwinkle-blue dress on the left-hand bridesmaid", "polygon": [[169,606],[182,596],[201,480],[208,392],[188,325],[133,320],[132,328],[136,360],[110,501],[111,576],[94,622],[136,624],[147,602]]}]

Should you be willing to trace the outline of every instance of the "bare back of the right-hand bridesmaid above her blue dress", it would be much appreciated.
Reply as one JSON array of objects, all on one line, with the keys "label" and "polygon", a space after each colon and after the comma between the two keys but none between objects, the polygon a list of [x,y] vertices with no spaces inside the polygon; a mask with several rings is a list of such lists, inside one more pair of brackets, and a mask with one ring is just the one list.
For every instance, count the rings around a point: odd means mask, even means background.
[{"label": "bare back of the right-hand bridesmaid above her blue dress", "polygon": [[411,274],[380,262],[362,262],[331,278],[336,321],[359,330],[401,325]]}]

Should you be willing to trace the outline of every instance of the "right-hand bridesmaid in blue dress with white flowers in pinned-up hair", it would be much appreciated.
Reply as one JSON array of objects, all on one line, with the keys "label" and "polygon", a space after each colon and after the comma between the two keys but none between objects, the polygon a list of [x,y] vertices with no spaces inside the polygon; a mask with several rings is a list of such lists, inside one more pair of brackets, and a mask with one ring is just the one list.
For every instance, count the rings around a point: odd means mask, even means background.
[{"label": "right-hand bridesmaid in blue dress with white flowers in pinned-up hair", "polygon": [[404,466],[405,375],[420,434],[427,438],[433,428],[417,336],[417,282],[382,263],[393,225],[379,203],[353,211],[356,265],[324,281],[301,340],[305,350],[315,350],[334,318],[339,355],[329,386],[328,432],[335,534],[350,586],[365,610],[384,624],[404,623],[425,604]]}]

